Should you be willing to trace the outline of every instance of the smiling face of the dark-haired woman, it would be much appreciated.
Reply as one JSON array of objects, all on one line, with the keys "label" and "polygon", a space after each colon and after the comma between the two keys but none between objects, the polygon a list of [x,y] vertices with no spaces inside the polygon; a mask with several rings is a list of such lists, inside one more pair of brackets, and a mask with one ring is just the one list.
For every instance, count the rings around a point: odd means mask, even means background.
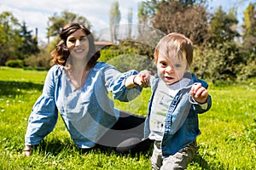
[{"label": "smiling face of the dark-haired woman", "polygon": [[89,40],[84,31],[77,30],[67,37],[67,48],[74,59],[86,59],[89,51]]}]

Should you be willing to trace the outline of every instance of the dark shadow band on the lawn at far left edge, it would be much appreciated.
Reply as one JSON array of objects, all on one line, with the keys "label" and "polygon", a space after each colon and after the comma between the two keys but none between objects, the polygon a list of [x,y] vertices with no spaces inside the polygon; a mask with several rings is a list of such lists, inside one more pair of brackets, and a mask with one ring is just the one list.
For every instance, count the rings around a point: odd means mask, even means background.
[{"label": "dark shadow band on the lawn at far left edge", "polygon": [[33,82],[6,82],[0,81],[0,95],[19,95],[22,94],[21,90],[38,90],[43,89],[43,84]]}]

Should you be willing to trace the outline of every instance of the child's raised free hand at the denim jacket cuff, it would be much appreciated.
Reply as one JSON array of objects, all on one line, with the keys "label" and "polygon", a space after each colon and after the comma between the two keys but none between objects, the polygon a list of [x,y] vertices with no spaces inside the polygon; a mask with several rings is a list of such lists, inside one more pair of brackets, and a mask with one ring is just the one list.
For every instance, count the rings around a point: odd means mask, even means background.
[{"label": "child's raised free hand at the denim jacket cuff", "polygon": [[201,86],[201,83],[193,84],[190,95],[195,99],[196,102],[204,104],[207,102],[208,92],[207,89]]}]

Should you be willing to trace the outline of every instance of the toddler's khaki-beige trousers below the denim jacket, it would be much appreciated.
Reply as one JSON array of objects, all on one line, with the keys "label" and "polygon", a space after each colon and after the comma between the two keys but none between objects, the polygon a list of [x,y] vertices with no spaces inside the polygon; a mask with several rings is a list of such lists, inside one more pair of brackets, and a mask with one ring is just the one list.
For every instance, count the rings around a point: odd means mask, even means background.
[{"label": "toddler's khaki-beige trousers below the denim jacket", "polygon": [[151,165],[154,170],[185,169],[193,160],[199,146],[196,141],[179,150],[175,155],[166,158],[162,157],[160,141],[154,141],[154,150],[151,157]]}]

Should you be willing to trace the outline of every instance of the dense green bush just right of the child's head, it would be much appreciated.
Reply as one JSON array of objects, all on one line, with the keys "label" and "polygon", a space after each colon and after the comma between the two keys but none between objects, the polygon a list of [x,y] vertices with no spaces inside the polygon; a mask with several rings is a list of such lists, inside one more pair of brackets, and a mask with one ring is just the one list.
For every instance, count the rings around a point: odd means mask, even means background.
[{"label": "dense green bush just right of the child's head", "polygon": [[205,47],[195,50],[192,70],[211,82],[235,81],[243,62],[236,42],[219,43],[216,48]]}]

